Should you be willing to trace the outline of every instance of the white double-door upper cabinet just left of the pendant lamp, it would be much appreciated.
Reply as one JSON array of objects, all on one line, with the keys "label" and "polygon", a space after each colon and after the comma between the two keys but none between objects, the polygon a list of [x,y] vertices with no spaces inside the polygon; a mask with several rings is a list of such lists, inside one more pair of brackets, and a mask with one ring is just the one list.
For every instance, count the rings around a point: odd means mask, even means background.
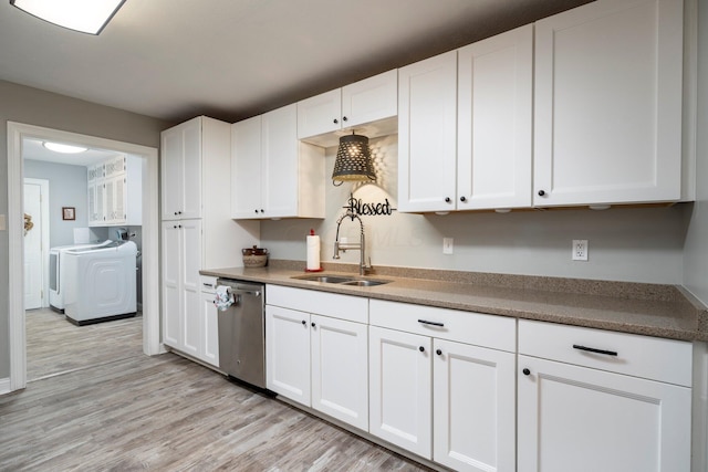
[{"label": "white double-door upper cabinet just left of the pendant lamp", "polygon": [[296,120],[292,104],[232,125],[231,218],[324,218],[324,149]]}]

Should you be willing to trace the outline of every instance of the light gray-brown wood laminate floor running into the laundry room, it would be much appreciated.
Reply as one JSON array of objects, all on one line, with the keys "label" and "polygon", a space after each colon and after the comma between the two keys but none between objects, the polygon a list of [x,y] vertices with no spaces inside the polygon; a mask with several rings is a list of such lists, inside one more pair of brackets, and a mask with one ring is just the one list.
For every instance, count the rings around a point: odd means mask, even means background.
[{"label": "light gray-brown wood laminate floor running into the laundry room", "polygon": [[37,339],[35,356],[28,318],[38,379],[0,397],[0,471],[428,470],[177,355],[143,355],[139,317],[92,328],[50,314],[79,332],[55,354]]}]

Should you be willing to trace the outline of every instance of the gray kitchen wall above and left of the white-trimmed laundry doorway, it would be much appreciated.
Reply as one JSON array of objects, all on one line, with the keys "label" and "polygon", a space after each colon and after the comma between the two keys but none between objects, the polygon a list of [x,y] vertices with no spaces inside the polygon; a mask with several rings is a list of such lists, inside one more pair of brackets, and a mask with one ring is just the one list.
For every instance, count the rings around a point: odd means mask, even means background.
[{"label": "gray kitchen wall above and left of the white-trimmed laundry doorway", "polygon": [[[0,81],[0,214],[8,214],[8,128],[18,122],[143,146],[159,147],[173,123]],[[10,375],[8,232],[0,231],[0,378]]]}]

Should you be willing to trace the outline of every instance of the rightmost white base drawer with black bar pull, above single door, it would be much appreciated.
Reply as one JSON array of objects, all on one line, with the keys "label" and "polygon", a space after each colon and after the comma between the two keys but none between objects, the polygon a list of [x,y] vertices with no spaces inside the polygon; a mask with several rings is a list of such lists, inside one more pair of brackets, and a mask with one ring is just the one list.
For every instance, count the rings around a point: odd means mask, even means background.
[{"label": "rightmost white base drawer with black bar pull, above single door", "polygon": [[521,319],[519,354],[691,385],[693,346],[683,340]]}]

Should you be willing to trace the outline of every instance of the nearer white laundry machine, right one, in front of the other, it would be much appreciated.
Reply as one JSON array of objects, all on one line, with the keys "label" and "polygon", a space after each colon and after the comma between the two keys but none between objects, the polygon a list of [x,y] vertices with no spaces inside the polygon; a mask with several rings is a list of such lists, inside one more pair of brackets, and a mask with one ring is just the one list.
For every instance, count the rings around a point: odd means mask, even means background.
[{"label": "nearer white laundry machine, right one, in front of the other", "polygon": [[64,259],[64,314],[76,325],[135,316],[137,247],[115,241],[71,249]]}]

